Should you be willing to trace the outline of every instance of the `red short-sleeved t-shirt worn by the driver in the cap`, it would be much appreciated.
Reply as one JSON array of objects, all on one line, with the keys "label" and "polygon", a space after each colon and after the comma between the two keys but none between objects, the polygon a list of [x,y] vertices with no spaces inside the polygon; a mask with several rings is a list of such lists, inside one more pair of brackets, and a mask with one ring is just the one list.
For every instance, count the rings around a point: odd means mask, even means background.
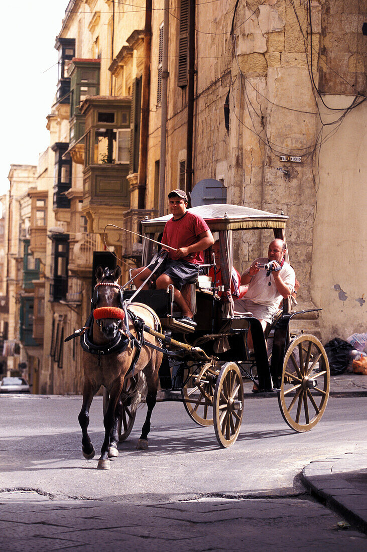
[{"label": "red short-sleeved t-shirt worn by the driver in the cap", "polygon": [[[181,219],[169,219],[166,222],[162,236],[162,245],[165,243],[175,249],[189,247],[199,241],[200,234],[208,230],[209,226],[201,216],[186,211]],[[175,258],[173,251],[169,251],[169,257],[171,259]],[[190,253],[187,257],[183,257],[180,260],[194,264],[203,264],[203,251]]]}]

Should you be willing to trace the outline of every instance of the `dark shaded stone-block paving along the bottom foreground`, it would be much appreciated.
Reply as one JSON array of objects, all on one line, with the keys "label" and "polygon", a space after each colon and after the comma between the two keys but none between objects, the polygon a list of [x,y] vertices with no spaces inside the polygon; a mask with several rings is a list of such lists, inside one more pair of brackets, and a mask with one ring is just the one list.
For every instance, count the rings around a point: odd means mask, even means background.
[{"label": "dark shaded stone-block paving along the bottom foreground", "polygon": [[304,497],[137,505],[0,493],[0,546],[9,552],[367,550],[364,535],[346,527]]}]

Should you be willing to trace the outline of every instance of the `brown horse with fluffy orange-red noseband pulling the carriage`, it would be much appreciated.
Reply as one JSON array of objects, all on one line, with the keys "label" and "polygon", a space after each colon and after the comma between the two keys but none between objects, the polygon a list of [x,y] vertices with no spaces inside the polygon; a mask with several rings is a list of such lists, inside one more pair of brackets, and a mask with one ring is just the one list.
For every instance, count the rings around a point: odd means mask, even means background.
[{"label": "brown horse with fluffy orange-red noseband pulling the carriage", "polygon": [[[105,435],[98,460],[98,469],[103,470],[109,469],[110,459],[119,454],[118,416],[123,402],[131,404],[134,411],[141,397],[146,397],[148,411],[137,448],[148,448],[150,420],[157,399],[158,370],[163,357],[158,339],[143,332],[143,324],[161,331],[156,313],[140,303],[126,305],[123,288],[118,284],[120,275],[119,266],[114,270],[102,267],[95,270],[93,311],[81,336],[84,387],[78,421],[82,428],[84,458],[92,459],[95,454],[88,435],[93,397],[101,385],[110,396],[103,418]],[[126,378],[133,376],[137,383],[132,391],[134,396],[130,397],[123,392],[123,385]]]}]

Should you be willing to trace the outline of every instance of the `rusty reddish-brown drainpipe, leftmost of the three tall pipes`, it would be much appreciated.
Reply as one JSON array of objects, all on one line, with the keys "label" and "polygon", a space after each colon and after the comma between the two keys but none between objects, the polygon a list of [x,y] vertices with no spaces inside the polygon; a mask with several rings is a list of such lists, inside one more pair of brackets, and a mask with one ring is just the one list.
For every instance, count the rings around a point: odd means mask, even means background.
[{"label": "rusty reddish-brown drainpipe, leftmost of the three tall pipes", "polygon": [[150,52],[152,41],[152,0],[145,4],[144,30],[144,66],[141,92],[141,119],[139,144],[139,177],[137,192],[137,208],[145,209],[145,189],[148,155],[148,126],[149,126],[149,93],[150,93]]}]

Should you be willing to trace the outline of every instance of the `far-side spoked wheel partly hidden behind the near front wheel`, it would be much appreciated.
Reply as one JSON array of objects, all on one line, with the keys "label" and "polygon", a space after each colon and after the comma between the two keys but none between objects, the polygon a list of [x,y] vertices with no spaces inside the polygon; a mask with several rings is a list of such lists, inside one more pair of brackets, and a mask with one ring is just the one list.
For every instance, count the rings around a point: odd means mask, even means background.
[{"label": "far-side spoked wheel partly hidden behind the near front wheel", "polygon": [[[200,372],[195,368],[193,366],[184,370],[184,385],[181,391],[184,407],[190,418],[199,426],[212,426],[215,370],[212,370],[210,362],[205,364]],[[196,381],[197,379],[199,381]]]}]

